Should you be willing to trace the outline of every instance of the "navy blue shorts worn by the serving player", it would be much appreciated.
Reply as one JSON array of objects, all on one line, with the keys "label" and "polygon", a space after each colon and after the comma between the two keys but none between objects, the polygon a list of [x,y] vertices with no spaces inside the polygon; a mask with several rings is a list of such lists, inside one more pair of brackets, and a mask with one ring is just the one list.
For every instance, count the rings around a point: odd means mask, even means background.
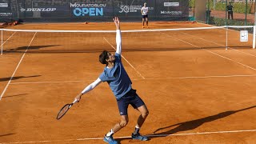
[{"label": "navy blue shorts worn by the serving player", "polygon": [[142,98],[139,98],[138,94],[136,94],[136,90],[133,89],[131,89],[126,95],[122,96],[122,98],[118,99],[118,109],[120,115],[127,115],[129,104],[133,106],[134,109],[145,105]]}]

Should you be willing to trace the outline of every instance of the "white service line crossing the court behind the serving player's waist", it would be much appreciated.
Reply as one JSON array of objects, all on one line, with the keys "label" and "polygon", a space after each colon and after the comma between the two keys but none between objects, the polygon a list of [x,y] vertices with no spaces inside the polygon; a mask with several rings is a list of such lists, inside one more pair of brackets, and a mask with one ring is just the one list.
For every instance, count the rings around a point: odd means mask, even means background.
[{"label": "white service line crossing the court behind the serving player's waist", "polygon": [[[166,78],[134,78],[131,79],[132,81],[139,81],[139,80],[159,80],[159,79],[189,79],[189,78],[235,78],[235,77],[256,77],[256,74],[249,74],[249,75],[210,75],[204,77],[166,77]],[[40,83],[66,83],[66,82],[87,82],[93,80],[86,80],[86,81],[48,81],[48,82],[12,82],[10,85],[20,85],[20,84],[40,84]]]}]

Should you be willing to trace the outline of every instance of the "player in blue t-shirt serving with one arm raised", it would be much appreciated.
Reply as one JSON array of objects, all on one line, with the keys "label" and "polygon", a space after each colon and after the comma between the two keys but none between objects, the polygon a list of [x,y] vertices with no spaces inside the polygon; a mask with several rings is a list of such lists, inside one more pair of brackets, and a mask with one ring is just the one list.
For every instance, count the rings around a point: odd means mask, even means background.
[{"label": "player in blue t-shirt serving with one arm raised", "polygon": [[128,124],[129,119],[127,109],[129,104],[141,113],[141,115],[138,117],[138,122],[135,126],[134,133],[131,134],[131,138],[141,141],[147,141],[149,138],[139,134],[139,130],[142,127],[143,122],[146,120],[149,111],[147,110],[146,105],[142,101],[142,99],[139,98],[138,94],[136,94],[136,90],[132,89],[132,82],[130,81],[129,76],[126,73],[126,70],[122,66],[122,40],[120,22],[117,17],[113,18],[113,20],[117,28],[117,50],[115,54],[111,54],[106,50],[102,51],[102,54],[99,55],[99,62],[101,62],[102,64],[106,64],[105,69],[96,81],[92,82],[89,86],[86,86],[86,88],[82,90],[82,93],[78,94],[75,100],[79,102],[82,94],[86,94],[90,90],[93,90],[94,87],[98,86],[98,84],[102,82],[107,82],[110,86],[110,89],[113,91],[115,98],[117,99],[121,121],[115,124],[114,127],[112,127],[112,129],[105,135],[103,139],[104,142],[113,144],[118,143],[114,140],[113,134],[118,132],[118,130],[121,130],[124,126]]}]

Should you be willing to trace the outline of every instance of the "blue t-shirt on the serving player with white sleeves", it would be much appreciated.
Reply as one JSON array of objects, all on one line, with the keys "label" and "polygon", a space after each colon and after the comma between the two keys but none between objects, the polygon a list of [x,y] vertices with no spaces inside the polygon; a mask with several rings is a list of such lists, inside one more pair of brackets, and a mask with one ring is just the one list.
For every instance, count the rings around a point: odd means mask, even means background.
[{"label": "blue t-shirt on the serving player with white sleeves", "polygon": [[105,67],[99,78],[102,82],[108,82],[110,89],[117,99],[122,98],[123,95],[131,90],[132,82],[122,66],[121,55],[118,53],[115,53],[114,67]]}]

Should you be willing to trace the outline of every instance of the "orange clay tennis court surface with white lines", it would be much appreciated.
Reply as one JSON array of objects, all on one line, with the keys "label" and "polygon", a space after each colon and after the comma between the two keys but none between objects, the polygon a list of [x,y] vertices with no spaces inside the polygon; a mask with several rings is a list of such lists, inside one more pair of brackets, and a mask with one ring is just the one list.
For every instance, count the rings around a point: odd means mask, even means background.
[{"label": "orange clay tennis court surface with white lines", "polygon": [[[122,19],[121,19],[122,21]],[[150,22],[150,28],[210,27],[193,22]],[[115,30],[113,22],[22,24],[18,30]],[[121,30],[142,30],[124,22]],[[130,139],[138,118],[114,134],[121,143],[255,143],[256,51],[226,29],[122,32],[122,63],[150,115]],[[102,50],[115,50],[115,33],[3,31],[0,56],[0,143],[105,143],[119,122],[117,102],[102,83],[60,120],[58,110],[94,82]]]}]

